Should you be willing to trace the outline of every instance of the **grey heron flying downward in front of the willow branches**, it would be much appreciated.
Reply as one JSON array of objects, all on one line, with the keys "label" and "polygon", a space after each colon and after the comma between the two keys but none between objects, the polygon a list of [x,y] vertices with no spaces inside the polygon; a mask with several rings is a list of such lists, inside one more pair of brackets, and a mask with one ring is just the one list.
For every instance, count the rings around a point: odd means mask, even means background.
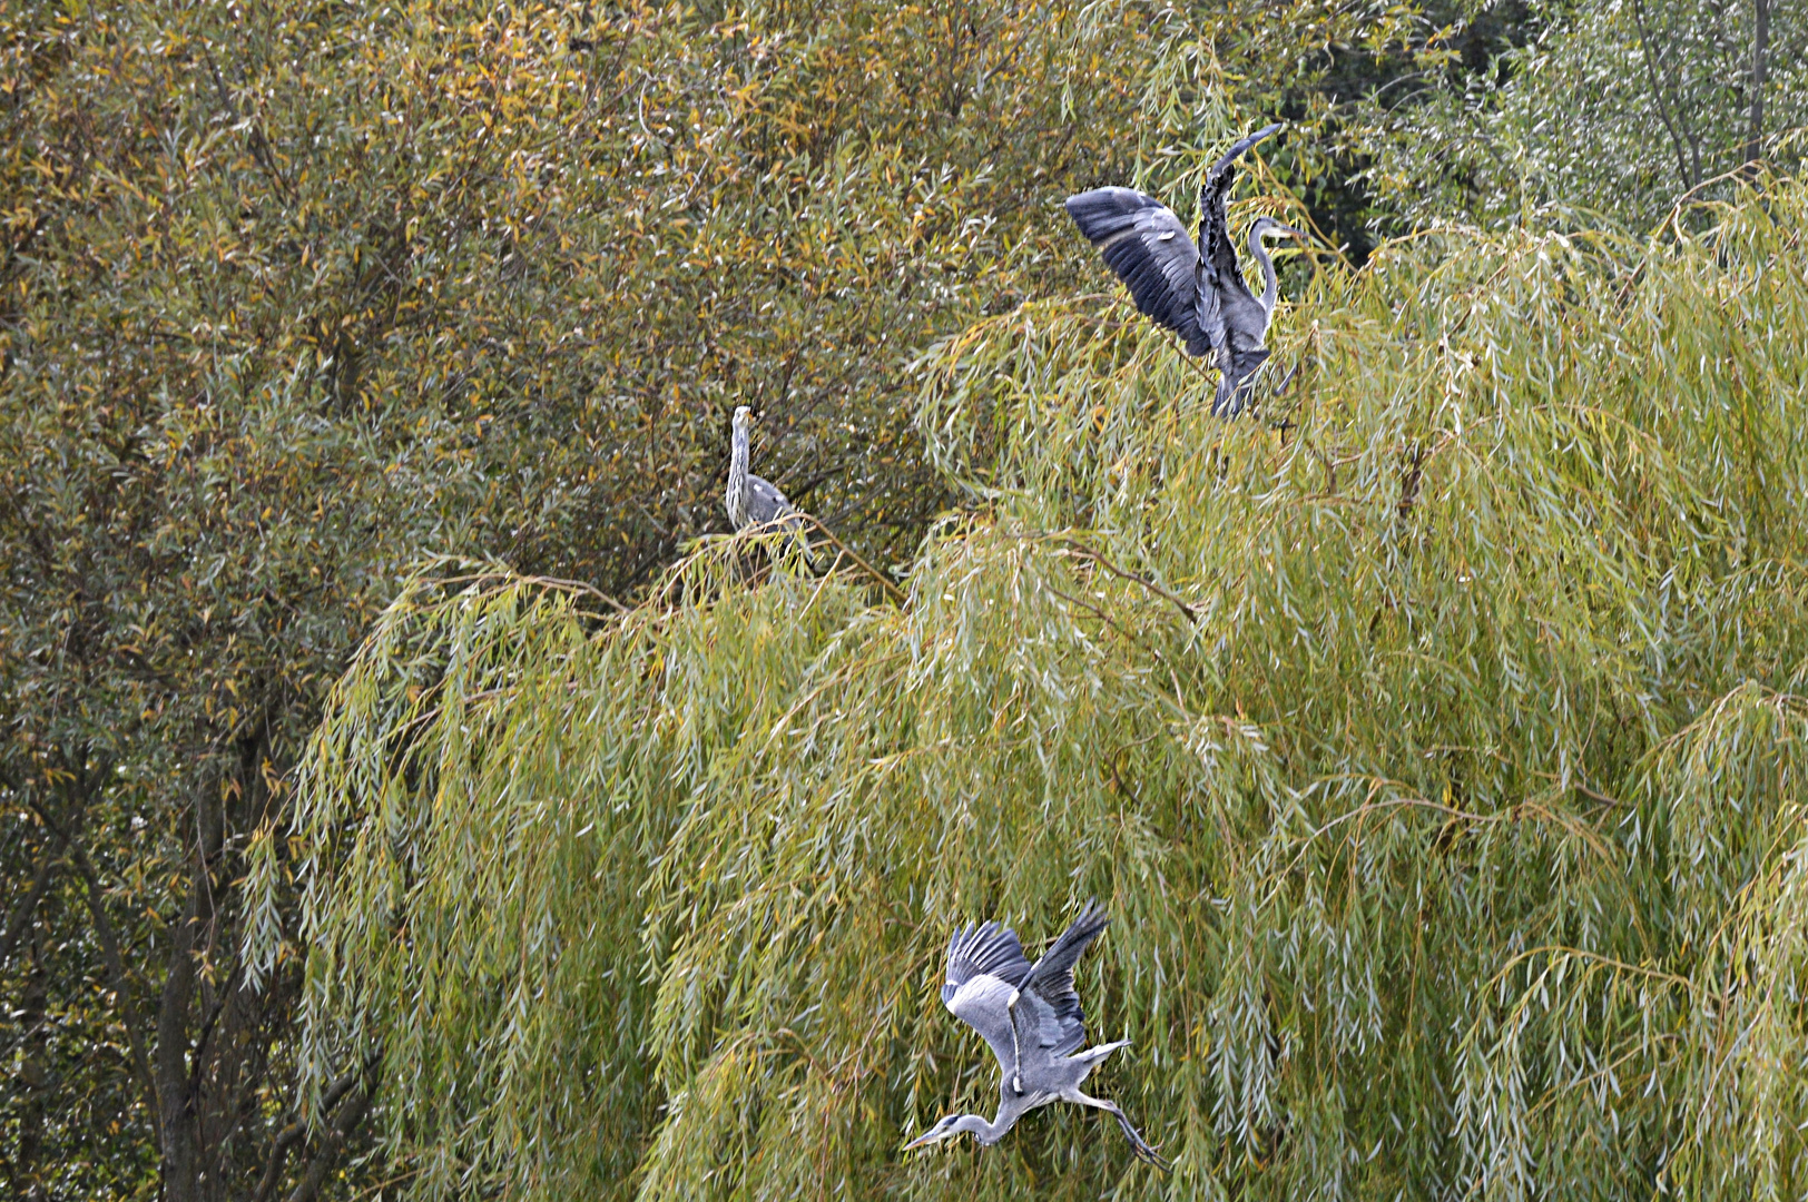
[{"label": "grey heron flying downward in front of the willow branches", "polygon": [[1110,918],[1105,911],[1087,902],[1074,925],[1036,963],[1023,958],[1023,945],[1011,927],[982,922],[955,931],[947,944],[942,1003],[980,1032],[998,1057],[1003,1077],[998,1083],[998,1117],[987,1122],[982,1115],[947,1115],[908,1142],[906,1150],[962,1132],[991,1146],[1031,1110],[1049,1103],[1074,1103],[1110,1113],[1130,1137],[1137,1157],[1168,1168],[1130,1126],[1117,1103],[1079,1092],[1079,1083],[1099,1061],[1130,1045],[1128,1039],[1119,1039],[1088,1048],[1079,994],[1074,992],[1074,963],[1106,922]]}]

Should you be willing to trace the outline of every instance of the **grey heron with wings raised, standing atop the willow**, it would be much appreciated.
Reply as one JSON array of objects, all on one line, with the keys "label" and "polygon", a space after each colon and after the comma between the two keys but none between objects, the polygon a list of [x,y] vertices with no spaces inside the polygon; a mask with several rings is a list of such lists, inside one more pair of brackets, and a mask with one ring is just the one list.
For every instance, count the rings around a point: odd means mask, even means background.
[{"label": "grey heron with wings raised, standing atop the willow", "polygon": [[1173,210],[1134,188],[1094,188],[1067,197],[1074,224],[1099,248],[1117,278],[1130,286],[1135,307],[1177,333],[1188,354],[1211,354],[1219,369],[1211,412],[1222,418],[1242,412],[1255,371],[1267,358],[1262,342],[1280,286],[1262,239],[1287,235],[1305,240],[1293,226],[1257,217],[1249,226],[1249,253],[1262,266],[1267,286],[1260,296],[1251,295],[1237,266],[1224,197],[1237,179],[1238,155],[1278,128],[1271,125],[1244,137],[1206,172],[1199,188],[1197,248]]}]

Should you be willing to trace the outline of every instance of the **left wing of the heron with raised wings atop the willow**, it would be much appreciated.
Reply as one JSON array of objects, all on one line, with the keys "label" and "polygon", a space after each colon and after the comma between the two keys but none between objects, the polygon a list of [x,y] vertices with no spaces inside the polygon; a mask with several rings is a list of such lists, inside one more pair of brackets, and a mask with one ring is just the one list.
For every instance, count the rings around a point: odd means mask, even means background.
[{"label": "left wing of the heron with raised wings atop the willow", "polygon": [[1134,188],[1094,188],[1067,197],[1067,213],[1130,286],[1137,311],[1177,333],[1188,354],[1215,345],[1201,325],[1199,248],[1173,210]]}]

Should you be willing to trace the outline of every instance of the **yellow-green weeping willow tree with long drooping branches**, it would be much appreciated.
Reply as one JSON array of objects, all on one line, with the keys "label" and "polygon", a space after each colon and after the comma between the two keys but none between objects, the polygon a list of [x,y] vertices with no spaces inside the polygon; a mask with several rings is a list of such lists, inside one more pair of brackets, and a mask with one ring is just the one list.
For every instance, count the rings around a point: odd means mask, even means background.
[{"label": "yellow-green weeping willow tree with long drooping branches", "polygon": [[[376,1065],[423,1198],[1803,1197],[1808,190],[1705,224],[1322,264],[1260,421],[1123,300],[987,318],[902,604],[428,566],[253,848],[315,1095]],[[900,1155],[996,1099],[949,929],[1087,897],[1173,1175]]]}]

